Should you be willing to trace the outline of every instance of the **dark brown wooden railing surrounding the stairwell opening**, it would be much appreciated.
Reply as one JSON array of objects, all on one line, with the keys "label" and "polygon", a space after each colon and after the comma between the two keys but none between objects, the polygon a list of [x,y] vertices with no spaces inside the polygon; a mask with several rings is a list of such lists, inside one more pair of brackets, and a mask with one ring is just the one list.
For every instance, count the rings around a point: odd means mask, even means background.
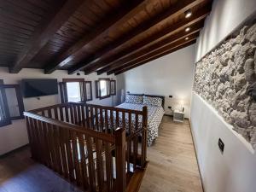
[{"label": "dark brown wooden railing surrounding the stairwell opening", "polygon": [[32,158],[80,189],[123,192],[126,175],[147,164],[147,108],[68,102],[24,115]]}]

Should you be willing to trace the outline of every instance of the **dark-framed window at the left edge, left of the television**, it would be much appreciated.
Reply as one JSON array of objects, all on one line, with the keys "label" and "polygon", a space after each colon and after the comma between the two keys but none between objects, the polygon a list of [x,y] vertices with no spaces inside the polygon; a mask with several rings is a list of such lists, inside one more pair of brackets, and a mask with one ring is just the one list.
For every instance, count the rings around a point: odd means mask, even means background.
[{"label": "dark-framed window at the left edge, left of the television", "polygon": [[0,81],[0,126],[11,124],[13,119],[22,119],[23,99],[19,84],[3,84]]}]

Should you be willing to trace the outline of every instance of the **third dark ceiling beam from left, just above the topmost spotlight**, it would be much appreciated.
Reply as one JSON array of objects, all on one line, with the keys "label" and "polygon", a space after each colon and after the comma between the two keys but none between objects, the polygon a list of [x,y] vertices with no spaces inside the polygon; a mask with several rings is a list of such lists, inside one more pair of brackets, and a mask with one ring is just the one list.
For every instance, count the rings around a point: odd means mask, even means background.
[{"label": "third dark ceiling beam from left, just above the topmost spotlight", "polygon": [[177,17],[178,15],[182,15],[184,13],[184,11],[191,9],[194,6],[196,6],[202,2],[208,2],[208,1],[206,1],[206,0],[177,1],[177,4],[173,5],[171,9],[168,9],[163,14],[156,15],[156,17],[154,19],[148,20],[147,22],[143,23],[142,25],[137,26],[137,28],[135,28],[132,32],[129,32],[129,33],[125,34],[124,36],[120,37],[116,42],[113,42],[113,44],[108,44],[105,48],[96,52],[96,54],[91,55],[89,58],[85,59],[84,61],[79,62],[77,65],[72,67],[68,71],[68,73],[70,73],[70,74],[76,73],[77,71],[82,70],[84,67],[86,69],[86,70],[84,70],[85,73],[87,73],[87,72],[91,73],[91,72],[96,71],[96,69],[98,67],[101,67],[104,63],[106,63],[106,61],[103,61],[103,60],[106,57],[108,58],[109,53],[114,52],[115,49],[119,48],[119,46],[130,41],[132,38],[137,37],[138,35],[147,31],[151,27],[159,25],[161,22],[164,22],[165,20],[170,20],[170,19]]}]

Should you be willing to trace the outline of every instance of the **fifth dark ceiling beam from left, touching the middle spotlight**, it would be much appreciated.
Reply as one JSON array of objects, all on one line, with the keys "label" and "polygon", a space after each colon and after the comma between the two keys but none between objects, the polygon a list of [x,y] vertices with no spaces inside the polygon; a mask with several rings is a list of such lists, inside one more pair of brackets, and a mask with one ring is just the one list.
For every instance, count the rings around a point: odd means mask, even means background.
[{"label": "fifth dark ceiling beam from left, touching the middle spotlight", "polygon": [[185,32],[185,30],[183,30],[182,32],[177,32],[167,38],[160,40],[156,44],[145,46],[145,48],[143,47],[143,49],[134,49],[133,51],[131,51],[131,53],[125,55],[125,57],[122,57],[117,61],[113,61],[111,65],[108,65],[107,67],[104,67],[101,70],[99,70],[97,74],[100,75],[102,73],[113,71],[114,69],[125,65],[127,62],[136,60],[137,58],[140,58],[143,55],[147,55],[148,53],[153,52],[156,49],[160,49],[161,47],[166,46],[167,44],[173,44],[174,42],[180,39],[186,38],[196,32],[199,32],[200,29],[203,27],[203,24],[203,20],[201,20],[195,25],[190,26],[189,32]]}]

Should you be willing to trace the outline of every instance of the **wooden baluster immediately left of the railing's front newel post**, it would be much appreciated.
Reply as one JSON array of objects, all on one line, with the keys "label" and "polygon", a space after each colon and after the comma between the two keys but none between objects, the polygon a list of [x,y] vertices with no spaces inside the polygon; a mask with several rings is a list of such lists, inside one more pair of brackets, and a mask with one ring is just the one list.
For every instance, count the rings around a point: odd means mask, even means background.
[{"label": "wooden baluster immediately left of the railing's front newel post", "polygon": [[110,143],[105,143],[106,175],[108,192],[113,191],[113,157]]}]

